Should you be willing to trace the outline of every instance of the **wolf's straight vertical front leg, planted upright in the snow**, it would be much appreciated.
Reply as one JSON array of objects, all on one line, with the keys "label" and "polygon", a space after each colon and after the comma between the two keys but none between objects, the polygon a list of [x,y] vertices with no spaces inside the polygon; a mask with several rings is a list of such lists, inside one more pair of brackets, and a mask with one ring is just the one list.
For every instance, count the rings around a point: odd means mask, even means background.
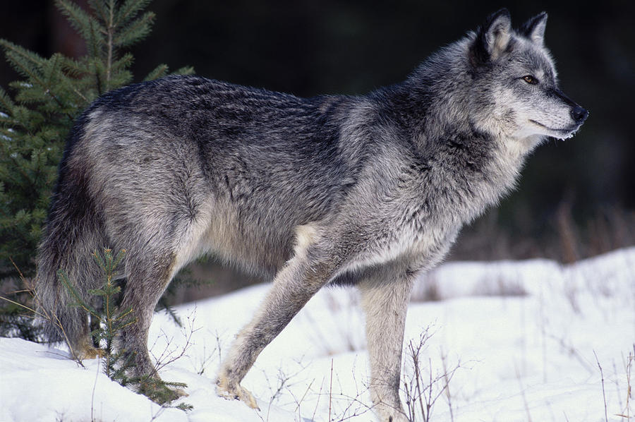
[{"label": "wolf's straight vertical front leg, planted upright in the snow", "polygon": [[399,399],[401,349],[413,276],[385,266],[358,284],[366,314],[370,397],[382,422],[408,422]]}]

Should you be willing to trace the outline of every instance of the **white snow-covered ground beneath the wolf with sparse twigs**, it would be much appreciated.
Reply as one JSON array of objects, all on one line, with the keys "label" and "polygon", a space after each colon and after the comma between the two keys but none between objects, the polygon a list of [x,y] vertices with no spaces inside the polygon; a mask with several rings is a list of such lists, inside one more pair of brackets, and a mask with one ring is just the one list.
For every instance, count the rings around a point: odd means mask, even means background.
[{"label": "white snow-covered ground beneath the wolf with sparse twigs", "polygon": [[[180,306],[183,329],[155,315],[157,358],[169,361],[188,345],[161,371],[164,380],[188,384],[188,397],[177,402],[193,406],[187,413],[112,382],[97,360],[80,368],[61,349],[1,338],[0,421],[373,421],[354,289],[320,291],[262,352],[243,380],[260,411],[216,396],[219,359],[267,289]],[[438,300],[421,300],[430,296]],[[635,392],[628,397],[629,385],[635,390],[635,248],[567,266],[447,263],[413,291],[406,351],[426,329],[422,388],[431,384],[433,398],[439,394],[430,421],[635,418]],[[404,366],[410,387],[408,353]]]}]

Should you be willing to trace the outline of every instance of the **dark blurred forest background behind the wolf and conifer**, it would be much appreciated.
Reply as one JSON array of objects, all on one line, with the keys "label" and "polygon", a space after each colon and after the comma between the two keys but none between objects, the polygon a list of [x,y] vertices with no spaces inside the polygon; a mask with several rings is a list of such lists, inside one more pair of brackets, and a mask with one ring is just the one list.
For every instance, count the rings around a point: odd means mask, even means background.
[{"label": "dark blurred forest background behind the wolf and conifer", "polygon": [[[574,138],[536,151],[519,189],[464,231],[453,258],[571,261],[634,244],[635,2],[155,0],[133,72],[191,65],[300,96],[363,94],[404,79],[502,6],[515,26],[549,13],[561,88],[591,115]],[[3,1],[0,37],[43,56],[85,52],[52,1]],[[0,85],[16,79],[0,60]]]}]

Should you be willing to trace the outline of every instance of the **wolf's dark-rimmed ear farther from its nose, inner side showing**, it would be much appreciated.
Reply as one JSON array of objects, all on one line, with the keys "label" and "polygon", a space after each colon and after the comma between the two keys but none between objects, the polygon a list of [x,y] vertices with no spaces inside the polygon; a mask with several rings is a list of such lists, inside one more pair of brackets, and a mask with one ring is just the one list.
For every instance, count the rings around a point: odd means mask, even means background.
[{"label": "wolf's dark-rimmed ear farther from its nose, inner side showing", "polygon": [[472,47],[473,59],[477,64],[495,61],[507,49],[512,35],[512,18],[506,8],[493,13],[483,26],[476,31]]}]

